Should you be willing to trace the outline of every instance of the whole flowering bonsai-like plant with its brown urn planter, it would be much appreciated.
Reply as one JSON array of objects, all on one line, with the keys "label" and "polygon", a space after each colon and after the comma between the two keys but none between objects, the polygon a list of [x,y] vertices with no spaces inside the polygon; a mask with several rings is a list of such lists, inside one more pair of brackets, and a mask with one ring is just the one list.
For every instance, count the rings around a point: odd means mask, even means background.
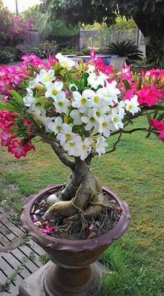
[{"label": "whole flowering bonsai-like plant with its brown urn planter", "polygon": [[[99,185],[92,158],[113,153],[125,133],[164,139],[164,71],[133,75],[124,65],[114,72],[92,51],[90,61],[77,67],[62,54],[46,62],[34,54],[22,59],[17,67],[0,68],[1,144],[25,157],[40,137],[71,170],[64,185],[30,196],[21,219],[55,263],[44,276],[46,295],[84,296],[99,282],[92,263],[129,224],[128,206]],[[127,127],[144,114],[147,128]]]}]

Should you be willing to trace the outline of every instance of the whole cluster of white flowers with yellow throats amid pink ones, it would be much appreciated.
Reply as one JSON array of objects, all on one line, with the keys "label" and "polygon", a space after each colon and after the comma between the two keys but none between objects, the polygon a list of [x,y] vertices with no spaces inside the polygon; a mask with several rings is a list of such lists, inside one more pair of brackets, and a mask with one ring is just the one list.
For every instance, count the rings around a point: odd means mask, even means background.
[{"label": "whole cluster of white flowers with yellow throats amid pink ones", "polygon": [[[56,55],[61,67],[72,70],[74,61],[61,54]],[[69,84],[69,92],[63,91],[63,81],[56,79],[54,70],[40,70],[40,73],[31,80],[24,97],[24,104],[28,111],[40,118],[47,132],[53,132],[56,139],[67,154],[85,159],[94,147],[97,153],[106,152],[106,138],[110,133],[124,127],[123,120],[126,111],[136,114],[140,111],[138,97],[134,95],[131,100],[118,100],[120,90],[116,81],[108,83],[104,73],[97,74],[94,68],[88,67],[88,89],[82,93],[76,84]],[[33,88],[44,88],[44,96],[35,98]],[[72,91],[72,89],[76,91]],[[71,99],[70,99],[71,97]],[[46,116],[45,101],[52,100],[56,116]],[[71,118],[70,123],[65,123],[64,117]],[[87,134],[82,139],[74,126],[83,126]],[[72,131],[73,130],[73,131]],[[96,134],[96,135],[95,135]],[[84,138],[84,136],[83,136]]]}]

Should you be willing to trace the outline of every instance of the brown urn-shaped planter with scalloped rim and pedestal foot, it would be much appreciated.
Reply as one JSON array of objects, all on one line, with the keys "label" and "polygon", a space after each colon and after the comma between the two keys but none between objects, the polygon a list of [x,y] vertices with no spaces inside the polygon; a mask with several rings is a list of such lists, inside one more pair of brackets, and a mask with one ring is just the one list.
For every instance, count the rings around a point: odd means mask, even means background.
[{"label": "brown urn-shaped planter with scalloped rim and pedestal foot", "polygon": [[[30,196],[24,205],[21,221],[28,235],[49,254],[51,266],[44,275],[44,292],[47,296],[85,296],[99,283],[99,272],[92,265],[101,254],[126,231],[129,225],[129,207],[117,194],[103,187],[108,196],[113,196],[122,208],[117,224],[99,237],[90,240],[60,240],[38,231],[31,221],[31,209],[35,201],[41,201],[52,189],[60,189],[61,185],[51,185]],[[89,294],[88,294],[89,293]]]}]

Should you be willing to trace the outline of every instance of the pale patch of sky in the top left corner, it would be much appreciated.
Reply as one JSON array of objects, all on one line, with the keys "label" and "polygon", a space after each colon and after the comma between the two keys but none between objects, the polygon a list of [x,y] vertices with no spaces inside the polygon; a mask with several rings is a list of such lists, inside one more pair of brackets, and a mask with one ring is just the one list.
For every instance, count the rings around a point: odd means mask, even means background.
[{"label": "pale patch of sky in the top left corner", "polygon": [[[40,0],[17,0],[18,11],[26,10],[29,6],[40,3]],[[10,11],[15,12],[15,0],[3,0],[4,6],[7,6]]]}]

